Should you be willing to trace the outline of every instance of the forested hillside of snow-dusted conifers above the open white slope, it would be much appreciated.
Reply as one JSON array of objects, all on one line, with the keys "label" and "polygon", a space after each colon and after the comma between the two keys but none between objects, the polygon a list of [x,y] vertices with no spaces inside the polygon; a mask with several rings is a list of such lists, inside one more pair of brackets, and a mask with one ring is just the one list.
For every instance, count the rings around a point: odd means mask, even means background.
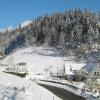
[{"label": "forested hillside of snow-dusted conifers above the open white slope", "polygon": [[80,9],[53,13],[26,21],[0,35],[1,55],[23,46],[43,45],[60,48],[63,56],[73,54],[84,58],[95,44],[99,50],[100,14]]}]

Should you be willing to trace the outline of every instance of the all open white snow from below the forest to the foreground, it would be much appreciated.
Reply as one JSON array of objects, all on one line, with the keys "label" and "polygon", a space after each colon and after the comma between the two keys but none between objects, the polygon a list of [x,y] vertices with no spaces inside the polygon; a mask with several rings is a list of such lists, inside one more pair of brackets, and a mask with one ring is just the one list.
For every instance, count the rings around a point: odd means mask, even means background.
[{"label": "all open white snow from below the forest to the foreground", "polygon": [[[23,48],[7,56],[0,63],[0,100],[33,100],[33,98],[34,100],[61,100],[47,89],[30,81],[30,77],[39,78],[46,72],[56,73],[57,69],[62,70],[64,60],[56,50],[42,47]],[[21,63],[24,63],[24,66],[19,65]],[[70,66],[80,69],[83,65],[76,62],[65,62],[66,73],[70,71]],[[26,68],[28,76],[20,78],[2,72],[12,66],[19,69]]]}]

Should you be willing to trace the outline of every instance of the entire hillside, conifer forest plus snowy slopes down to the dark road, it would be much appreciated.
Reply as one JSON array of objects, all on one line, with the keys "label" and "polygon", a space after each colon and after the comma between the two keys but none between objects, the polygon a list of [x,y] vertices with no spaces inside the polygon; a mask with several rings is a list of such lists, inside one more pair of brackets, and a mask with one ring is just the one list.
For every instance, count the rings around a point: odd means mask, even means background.
[{"label": "entire hillside, conifer forest plus snowy slopes down to the dark road", "polygon": [[[0,99],[61,100],[34,81],[52,74],[73,74],[71,69],[100,61],[100,14],[70,10],[5,30],[0,33],[2,56]],[[26,77],[20,76],[23,73]]]}]

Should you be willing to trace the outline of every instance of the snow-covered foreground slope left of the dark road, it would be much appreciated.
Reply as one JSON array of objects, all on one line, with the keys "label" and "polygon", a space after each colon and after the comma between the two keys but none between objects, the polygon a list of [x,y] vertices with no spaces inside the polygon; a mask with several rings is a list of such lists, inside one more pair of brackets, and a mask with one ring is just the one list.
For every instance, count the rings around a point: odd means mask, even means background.
[{"label": "snow-covered foreground slope left of the dark road", "polygon": [[[22,88],[25,91],[22,91]],[[61,100],[28,79],[0,72],[0,100]]]}]

